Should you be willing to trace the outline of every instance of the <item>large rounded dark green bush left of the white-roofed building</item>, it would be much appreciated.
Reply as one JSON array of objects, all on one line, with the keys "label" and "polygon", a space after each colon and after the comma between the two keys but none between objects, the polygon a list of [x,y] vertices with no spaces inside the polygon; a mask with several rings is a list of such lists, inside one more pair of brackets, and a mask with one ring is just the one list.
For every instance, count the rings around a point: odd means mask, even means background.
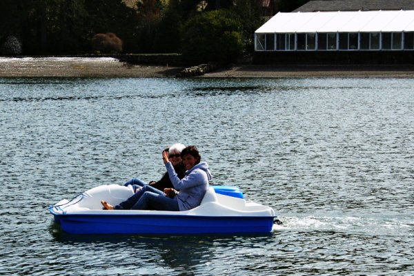
[{"label": "large rounded dark green bush left of the white-roofed building", "polygon": [[203,12],[184,26],[182,54],[188,63],[231,63],[242,50],[242,24],[234,12]]}]

